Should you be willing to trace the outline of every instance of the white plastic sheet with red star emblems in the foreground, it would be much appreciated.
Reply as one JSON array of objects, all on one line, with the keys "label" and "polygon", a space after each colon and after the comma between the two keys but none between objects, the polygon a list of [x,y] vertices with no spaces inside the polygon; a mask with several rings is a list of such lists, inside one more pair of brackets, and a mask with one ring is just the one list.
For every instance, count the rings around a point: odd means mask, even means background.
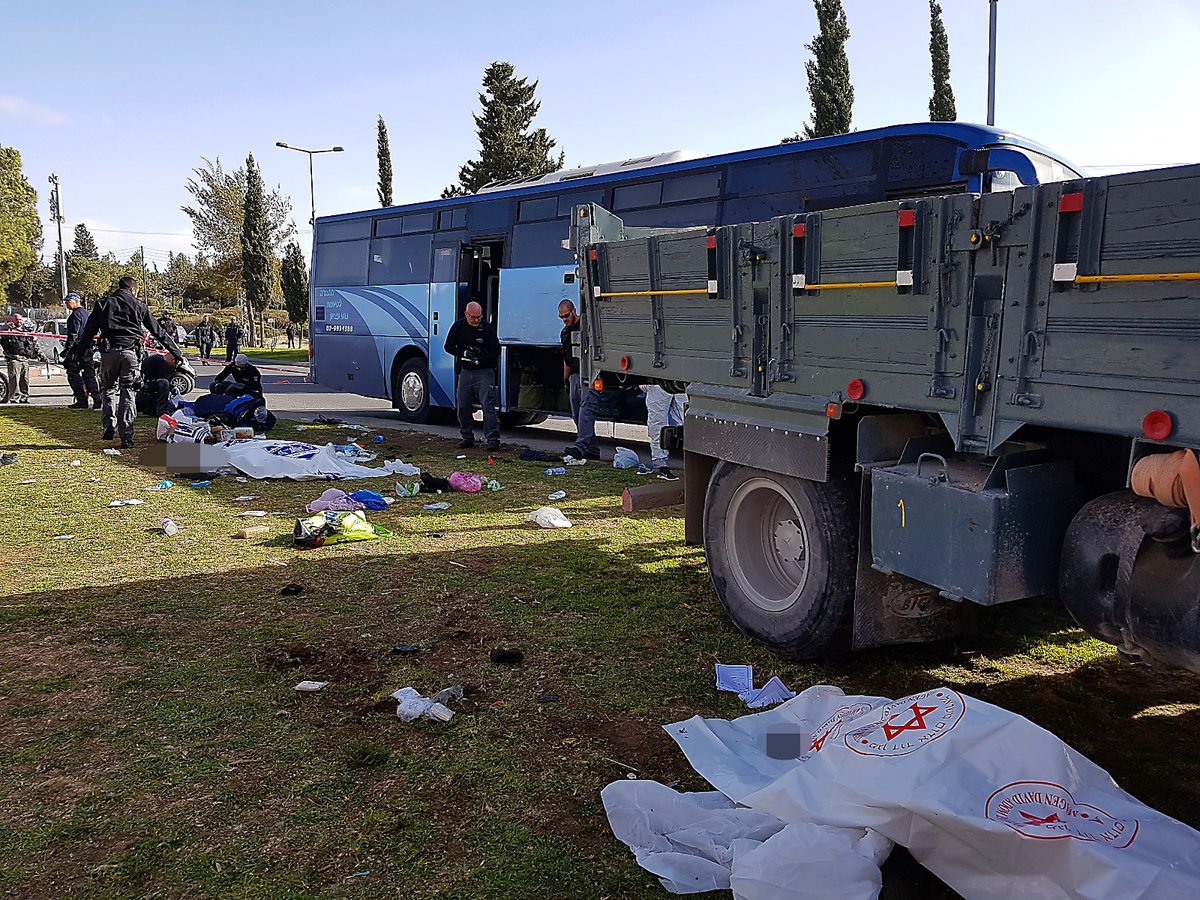
[{"label": "white plastic sheet with red star emblems in the foreground", "polygon": [[[823,895],[818,880],[841,870],[830,895],[874,896],[877,882],[862,893],[870,853],[854,841],[868,829],[967,898],[1200,896],[1200,833],[1139,803],[1050,732],[949,688],[890,701],[818,685],[767,713],[696,716],[666,731],[738,804],[667,802],[637,781],[605,788],[614,834],[650,871],[662,875],[668,862],[665,886],[676,890],[720,887],[686,887],[715,864],[734,896]],[[703,836],[695,815],[679,811],[697,797],[709,798]],[[750,814],[779,820],[778,836],[744,833]],[[793,835],[802,850],[774,852],[791,824],[828,832],[824,845]],[[683,842],[679,830],[689,832]],[[740,883],[754,887],[742,893]]]}]

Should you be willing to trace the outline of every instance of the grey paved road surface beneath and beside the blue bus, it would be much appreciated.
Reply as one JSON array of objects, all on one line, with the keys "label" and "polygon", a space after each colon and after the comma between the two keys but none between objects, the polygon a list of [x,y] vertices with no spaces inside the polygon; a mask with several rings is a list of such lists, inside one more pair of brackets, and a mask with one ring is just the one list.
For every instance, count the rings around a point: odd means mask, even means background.
[{"label": "grey paved road surface beneath and beside the blue bus", "polygon": [[[192,358],[192,366],[198,376],[197,392],[208,389],[212,377],[221,371],[221,365],[206,365]],[[319,384],[307,384],[307,367],[263,364],[263,391],[268,406],[281,419],[307,420],[317,415],[330,415],[356,425],[376,428],[401,428],[440,434],[458,439],[457,425],[410,425],[400,419],[391,404],[385,400],[360,397],[356,394],[330,390]],[[193,392],[191,396],[197,396]],[[30,379],[30,398],[35,406],[65,407],[71,402],[71,389],[62,374],[49,379]],[[2,407],[0,407],[2,409]],[[476,413],[476,421],[480,416]],[[476,440],[481,440],[482,426],[476,427]],[[601,452],[612,457],[612,448],[617,444],[628,445],[638,451],[647,461],[649,449],[646,440],[646,428],[632,425],[612,425],[598,422],[596,434],[600,438]],[[547,452],[562,452],[563,448],[575,437],[575,425],[570,419],[547,419],[544,424],[529,428],[512,428],[502,434],[504,442],[528,444]],[[682,457],[672,457],[677,466]]]}]

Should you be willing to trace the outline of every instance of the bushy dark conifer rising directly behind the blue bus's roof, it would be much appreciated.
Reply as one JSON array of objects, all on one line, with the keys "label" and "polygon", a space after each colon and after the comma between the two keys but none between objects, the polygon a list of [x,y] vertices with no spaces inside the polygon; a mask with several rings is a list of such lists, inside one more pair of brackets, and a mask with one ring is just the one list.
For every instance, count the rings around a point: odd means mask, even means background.
[{"label": "bushy dark conifer rising directly behind the blue bus's roof", "polygon": [[479,158],[458,169],[458,182],[443,197],[475,193],[492,181],[545,175],[563,168],[563,154],[551,155],[556,142],[545,128],[529,131],[541,103],[534,100],[538,82],[517,78],[511,62],[493,62],[484,71],[484,91],[475,115]]}]

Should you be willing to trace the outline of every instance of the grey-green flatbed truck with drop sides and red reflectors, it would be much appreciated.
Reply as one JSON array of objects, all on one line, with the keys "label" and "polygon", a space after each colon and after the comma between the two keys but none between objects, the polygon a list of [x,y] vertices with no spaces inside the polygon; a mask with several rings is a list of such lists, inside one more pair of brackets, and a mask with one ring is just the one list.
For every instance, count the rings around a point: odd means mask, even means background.
[{"label": "grey-green flatbed truck with drop sides and red reflectors", "polygon": [[1056,593],[1200,671],[1200,167],[571,234],[583,374],[688,390],[742,631],[804,659]]}]

